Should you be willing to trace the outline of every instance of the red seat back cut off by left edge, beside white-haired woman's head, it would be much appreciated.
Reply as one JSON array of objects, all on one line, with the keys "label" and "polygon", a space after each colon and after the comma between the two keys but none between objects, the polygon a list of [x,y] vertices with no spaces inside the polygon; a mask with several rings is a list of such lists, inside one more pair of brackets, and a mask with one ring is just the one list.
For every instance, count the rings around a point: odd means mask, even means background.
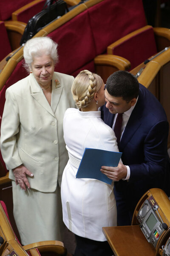
[{"label": "red seat back cut off by left edge, beside white-haired woman's head", "polygon": [[8,55],[9,52],[11,52],[11,45],[9,43],[8,34],[6,31],[5,23],[3,21],[0,21],[0,61]]}]

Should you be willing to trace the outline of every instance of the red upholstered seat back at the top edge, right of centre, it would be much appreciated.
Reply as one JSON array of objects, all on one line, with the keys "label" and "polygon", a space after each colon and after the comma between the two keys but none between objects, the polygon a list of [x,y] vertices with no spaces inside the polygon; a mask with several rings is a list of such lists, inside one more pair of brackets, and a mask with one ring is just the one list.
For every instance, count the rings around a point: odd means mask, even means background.
[{"label": "red upholstered seat back at the top edge, right of centre", "polygon": [[[146,25],[142,1],[105,0],[88,9],[96,55],[128,33]],[[82,24],[82,23],[81,23]]]}]

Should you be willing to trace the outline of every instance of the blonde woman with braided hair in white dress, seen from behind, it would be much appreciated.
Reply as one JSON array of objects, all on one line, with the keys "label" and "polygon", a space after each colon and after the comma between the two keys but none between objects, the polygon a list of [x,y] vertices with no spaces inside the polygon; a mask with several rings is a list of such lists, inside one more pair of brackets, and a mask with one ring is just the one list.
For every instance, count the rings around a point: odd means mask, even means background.
[{"label": "blonde woman with braided hair in white dress, seen from behind", "polygon": [[64,115],[69,161],[62,176],[61,197],[63,221],[76,235],[74,256],[113,255],[102,227],[116,226],[114,183],[108,185],[100,180],[76,178],[85,148],[118,151],[114,131],[102,121],[98,111],[105,104],[104,90],[100,76],[81,71],[72,85],[78,109],[69,108]]}]

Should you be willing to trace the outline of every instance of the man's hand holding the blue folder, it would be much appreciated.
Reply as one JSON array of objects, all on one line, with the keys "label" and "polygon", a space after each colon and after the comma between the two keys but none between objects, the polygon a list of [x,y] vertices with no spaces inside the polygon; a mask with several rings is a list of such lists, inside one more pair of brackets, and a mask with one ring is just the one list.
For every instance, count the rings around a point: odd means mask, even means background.
[{"label": "man's hand holding the blue folder", "polygon": [[122,163],[119,163],[117,167],[102,166],[100,171],[114,181],[119,181],[127,176],[127,167]]}]

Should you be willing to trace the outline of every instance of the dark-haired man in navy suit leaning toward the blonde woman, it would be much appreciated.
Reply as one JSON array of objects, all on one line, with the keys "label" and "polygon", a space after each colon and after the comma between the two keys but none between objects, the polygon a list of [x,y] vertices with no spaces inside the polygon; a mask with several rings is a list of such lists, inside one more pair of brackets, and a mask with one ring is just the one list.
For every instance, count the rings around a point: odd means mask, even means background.
[{"label": "dark-haired man in navy suit leaning toward the blonde woman", "polygon": [[102,114],[106,124],[114,129],[118,114],[123,113],[118,141],[123,164],[102,166],[101,171],[116,181],[118,225],[130,225],[136,204],[148,189],[161,188],[169,194],[169,125],[156,97],[126,71],[108,78],[105,100]]}]

